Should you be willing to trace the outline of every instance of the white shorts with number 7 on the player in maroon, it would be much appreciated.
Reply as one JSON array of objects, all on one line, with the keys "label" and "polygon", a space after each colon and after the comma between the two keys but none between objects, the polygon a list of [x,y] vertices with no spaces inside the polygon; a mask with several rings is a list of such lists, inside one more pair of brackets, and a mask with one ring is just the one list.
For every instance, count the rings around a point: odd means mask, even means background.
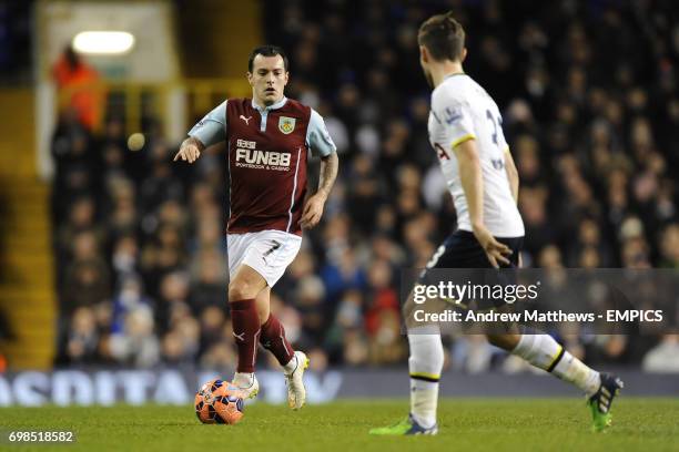
[{"label": "white shorts with number 7 on the player in maroon", "polygon": [[268,287],[285,273],[302,246],[302,237],[282,230],[227,234],[229,276],[233,278],[245,264],[257,271]]}]

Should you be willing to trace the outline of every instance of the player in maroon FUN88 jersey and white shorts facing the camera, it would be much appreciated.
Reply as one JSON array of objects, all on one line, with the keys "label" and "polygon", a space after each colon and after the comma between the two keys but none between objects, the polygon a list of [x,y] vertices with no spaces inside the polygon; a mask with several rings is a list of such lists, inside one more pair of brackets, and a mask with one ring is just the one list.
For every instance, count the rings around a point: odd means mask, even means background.
[{"label": "player in maroon FUN88 jersey and white shorts facing the camera", "polygon": [[[321,115],[285,97],[288,76],[282,49],[254,49],[247,66],[252,99],[230,99],[215,107],[191,129],[174,160],[193,163],[206,146],[226,141],[229,304],[239,350],[233,383],[246,398],[257,394],[259,341],[283,366],[287,401],[296,410],[306,399],[302,376],[308,359],[293,350],[270,312],[270,294],[300,250],[302,228],[318,224],[338,160]],[[321,157],[321,174],[316,193],[305,201],[310,150]]]}]

